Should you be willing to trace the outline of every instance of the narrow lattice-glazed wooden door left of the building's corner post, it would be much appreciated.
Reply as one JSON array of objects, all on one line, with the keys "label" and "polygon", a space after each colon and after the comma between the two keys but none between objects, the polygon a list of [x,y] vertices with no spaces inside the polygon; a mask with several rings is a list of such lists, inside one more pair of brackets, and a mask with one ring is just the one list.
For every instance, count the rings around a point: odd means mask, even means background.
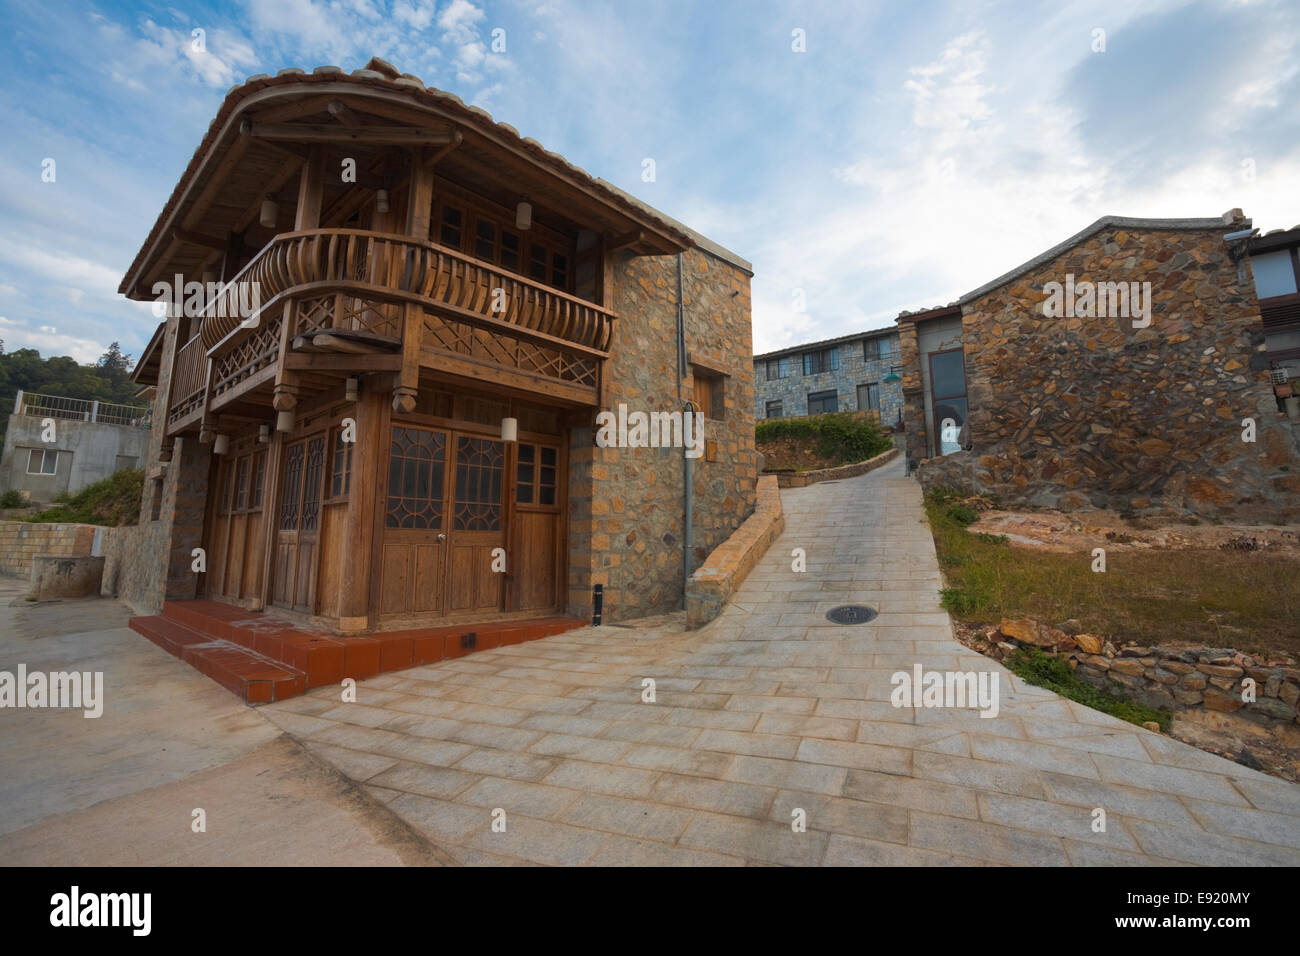
[{"label": "narrow lattice-glazed wooden door left of the building's corner post", "polygon": [[272,602],[315,613],[325,436],[317,434],[286,446],[283,462]]}]

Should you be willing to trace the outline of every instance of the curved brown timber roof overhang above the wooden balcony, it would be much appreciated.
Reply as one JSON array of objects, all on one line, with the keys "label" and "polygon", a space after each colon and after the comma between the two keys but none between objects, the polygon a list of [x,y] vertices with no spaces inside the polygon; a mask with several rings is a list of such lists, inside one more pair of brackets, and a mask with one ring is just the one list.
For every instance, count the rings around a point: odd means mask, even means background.
[{"label": "curved brown timber roof overhang above the wooden balcony", "polygon": [[[332,104],[342,109],[332,111]],[[303,126],[302,142],[294,142],[292,130],[286,137],[285,127],[292,124]],[[488,199],[512,207],[526,195],[541,224],[571,216],[572,222],[556,221],[552,228],[636,237],[629,247],[640,255],[668,255],[694,245],[680,229],[455,96],[426,88],[413,77],[321,68],[311,74],[255,77],[226,95],[118,290],[129,298],[150,299],[155,281],[170,280],[177,272],[194,278],[204,269],[214,271],[222,259],[218,237],[260,229],[257,209],[272,193],[285,216],[296,195],[294,185],[307,147],[313,138],[320,142],[320,129],[330,124],[339,130],[350,124],[386,126],[394,131],[391,138],[416,142],[419,134],[399,130],[459,133],[456,148],[439,159],[438,172]],[[256,135],[259,126],[263,133],[270,127],[274,135]],[[363,157],[369,147],[359,139],[346,148],[348,155],[358,153],[358,178],[364,182]],[[390,153],[402,148],[382,146]],[[285,219],[265,230],[264,238],[289,226]],[[254,238],[248,245],[261,243]]]}]

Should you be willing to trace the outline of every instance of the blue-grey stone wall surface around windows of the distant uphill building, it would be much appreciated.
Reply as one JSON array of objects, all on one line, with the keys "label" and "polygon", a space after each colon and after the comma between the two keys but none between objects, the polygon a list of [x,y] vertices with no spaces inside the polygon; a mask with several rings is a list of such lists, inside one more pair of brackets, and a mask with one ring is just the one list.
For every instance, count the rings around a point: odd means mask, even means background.
[{"label": "blue-grey stone wall surface around windows of the distant uphill building", "polygon": [[[885,425],[894,424],[902,411],[902,384],[887,382],[885,376],[889,369],[902,362],[898,355],[898,346],[894,345],[892,358],[866,359],[863,342],[867,338],[878,338],[880,347],[887,341],[897,342],[898,336],[889,332],[885,336],[863,336],[838,345],[827,346],[840,352],[840,368],[833,372],[820,372],[818,375],[803,375],[803,352],[794,352],[785,358],[790,363],[790,373],[784,378],[767,378],[767,360],[754,362],[754,418],[759,421],[767,418],[767,403],[781,402],[781,416],[796,418],[809,414],[810,392],[831,392],[838,395],[840,411],[866,411],[858,408],[858,385],[875,382],[880,386],[880,421]],[[818,351],[809,349],[809,351]]]}]

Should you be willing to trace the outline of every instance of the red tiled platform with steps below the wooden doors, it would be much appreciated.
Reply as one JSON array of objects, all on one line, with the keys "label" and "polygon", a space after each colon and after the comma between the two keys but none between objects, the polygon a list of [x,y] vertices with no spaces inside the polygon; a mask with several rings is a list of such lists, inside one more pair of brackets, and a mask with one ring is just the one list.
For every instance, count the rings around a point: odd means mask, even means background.
[{"label": "red tiled platform with steps below the wooden doors", "polygon": [[[498,620],[341,637],[218,601],[168,601],[162,614],[131,618],[131,630],[207,674],[250,704],[308,688],[360,680],[585,626],[578,618]],[[469,644],[473,635],[473,646]]]}]

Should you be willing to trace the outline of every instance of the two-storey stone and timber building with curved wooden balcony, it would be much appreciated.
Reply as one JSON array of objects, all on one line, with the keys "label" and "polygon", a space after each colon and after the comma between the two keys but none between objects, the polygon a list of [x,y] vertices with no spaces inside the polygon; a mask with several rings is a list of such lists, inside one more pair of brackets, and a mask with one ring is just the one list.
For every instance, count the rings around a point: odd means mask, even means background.
[{"label": "two-storey stone and timber building with curved wooden balcony", "polygon": [[[172,300],[120,593],[339,635],[680,607],[754,509],[751,274],[382,60],[250,78],[122,281]],[[684,408],[696,450],[598,444]]]}]

